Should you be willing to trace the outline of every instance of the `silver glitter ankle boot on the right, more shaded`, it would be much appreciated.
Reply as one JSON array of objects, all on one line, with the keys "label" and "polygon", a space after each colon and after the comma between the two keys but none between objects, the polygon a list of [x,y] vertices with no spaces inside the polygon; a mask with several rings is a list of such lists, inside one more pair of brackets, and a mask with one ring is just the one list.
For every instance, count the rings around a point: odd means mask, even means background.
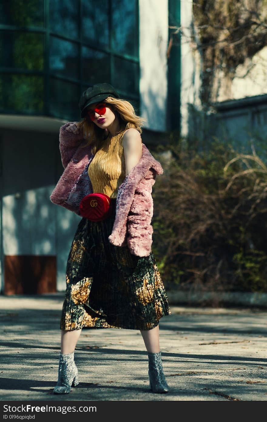
[{"label": "silver glitter ankle boot on the right, more shaded", "polygon": [[169,391],[169,386],[163,373],[161,352],[148,353],[148,376],[149,388],[154,393],[167,393]]}]

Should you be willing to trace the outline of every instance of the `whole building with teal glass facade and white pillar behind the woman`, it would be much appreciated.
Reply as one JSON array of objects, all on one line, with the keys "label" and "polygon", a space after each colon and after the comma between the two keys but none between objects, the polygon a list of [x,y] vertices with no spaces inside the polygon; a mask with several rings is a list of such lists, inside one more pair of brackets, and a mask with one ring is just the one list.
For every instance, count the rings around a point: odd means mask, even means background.
[{"label": "whole building with teal glass facade and white pillar behind the woman", "polygon": [[49,197],[59,128],[81,93],[109,82],[145,119],[153,148],[178,127],[177,0],[0,0],[0,293],[64,291],[80,217]]}]

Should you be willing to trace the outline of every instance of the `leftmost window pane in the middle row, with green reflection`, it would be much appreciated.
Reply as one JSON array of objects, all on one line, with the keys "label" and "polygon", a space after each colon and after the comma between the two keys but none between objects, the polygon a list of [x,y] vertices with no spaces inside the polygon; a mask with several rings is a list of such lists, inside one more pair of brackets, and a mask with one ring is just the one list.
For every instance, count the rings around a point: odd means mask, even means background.
[{"label": "leftmost window pane in the middle row, with green reflection", "polygon": [[43,70],[43,34],[0,31],[0,66]]}]

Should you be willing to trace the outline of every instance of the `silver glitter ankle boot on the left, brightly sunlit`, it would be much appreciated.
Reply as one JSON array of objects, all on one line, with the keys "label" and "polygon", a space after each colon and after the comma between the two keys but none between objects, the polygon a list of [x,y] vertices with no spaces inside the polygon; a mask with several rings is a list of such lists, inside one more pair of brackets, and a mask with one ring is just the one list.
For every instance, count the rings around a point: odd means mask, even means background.
[{"label": "silver glitter ankle boot on the left, brightly sunlit", "polygon": [[59,355],[59,368],[57,385],[54,394],[68,394],[72,386],[79,384],[78,369],[74,362],[74,352]]}]

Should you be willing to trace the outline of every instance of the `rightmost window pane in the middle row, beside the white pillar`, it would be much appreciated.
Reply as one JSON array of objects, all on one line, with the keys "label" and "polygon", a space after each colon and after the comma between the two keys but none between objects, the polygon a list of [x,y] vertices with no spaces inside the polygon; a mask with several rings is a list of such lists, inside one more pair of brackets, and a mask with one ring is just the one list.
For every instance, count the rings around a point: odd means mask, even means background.
[{"label": "rightmost window pane in the middle row, beside the white pillar", "polygon": [[113,84],[122,91],[139,94],[139,65],[114,57]]}]

